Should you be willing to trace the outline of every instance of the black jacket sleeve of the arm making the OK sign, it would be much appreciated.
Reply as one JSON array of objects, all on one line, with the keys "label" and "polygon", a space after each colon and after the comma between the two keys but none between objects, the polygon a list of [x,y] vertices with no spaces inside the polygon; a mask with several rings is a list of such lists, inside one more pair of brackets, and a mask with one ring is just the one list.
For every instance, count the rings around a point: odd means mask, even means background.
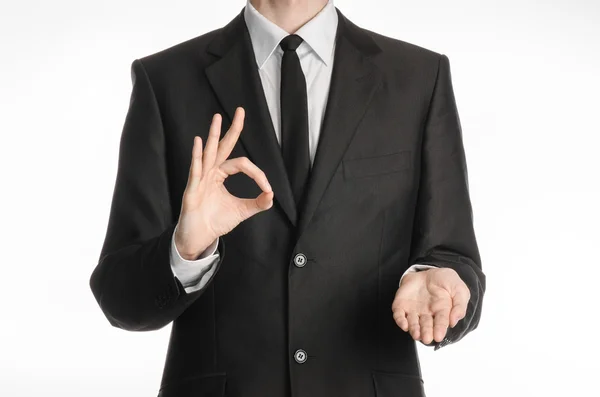
[{"label": "black jacket sleeve of the arm making the OK sign", "polygon": [[[210,284],[187,293],[170,265],[177,216],[171,205],[165,135],[158,103],[140,60],[121,134],[110,215],[90,288],[108,321],[129,331],[156,330],[176,319]],[[177,214],[178,215],[178,214]]]}]

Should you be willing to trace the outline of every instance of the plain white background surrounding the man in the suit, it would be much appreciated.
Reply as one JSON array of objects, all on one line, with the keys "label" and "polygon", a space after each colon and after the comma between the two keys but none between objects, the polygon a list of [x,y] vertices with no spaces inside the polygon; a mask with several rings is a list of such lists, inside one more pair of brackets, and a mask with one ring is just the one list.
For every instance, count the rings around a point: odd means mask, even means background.
[{"label": "plain white background surrounding the man in the suit", "polygon": [[[451,62],[488,290],[475,332],[420,348],[428,396],[599,395],[600,3],[336,5]],[[243,6],[2,0],[0,394],[156,395],[170,326],[112,328],[88,286],[129,67]]]}]

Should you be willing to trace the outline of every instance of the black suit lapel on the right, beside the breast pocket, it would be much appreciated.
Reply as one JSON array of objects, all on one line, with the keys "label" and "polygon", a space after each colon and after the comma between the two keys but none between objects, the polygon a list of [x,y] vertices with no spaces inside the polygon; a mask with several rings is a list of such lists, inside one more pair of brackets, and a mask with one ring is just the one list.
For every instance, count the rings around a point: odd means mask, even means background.
[{"label": "black suit lapel on the right, beside the breast pocket", "polygon": [[[337,9],[336,9],[337,10]],[[370,56],[375,42],[338,12],[333,71],[319,144],[299,216],[298,238],[310,223],[357,126],[381,82]]]}]

